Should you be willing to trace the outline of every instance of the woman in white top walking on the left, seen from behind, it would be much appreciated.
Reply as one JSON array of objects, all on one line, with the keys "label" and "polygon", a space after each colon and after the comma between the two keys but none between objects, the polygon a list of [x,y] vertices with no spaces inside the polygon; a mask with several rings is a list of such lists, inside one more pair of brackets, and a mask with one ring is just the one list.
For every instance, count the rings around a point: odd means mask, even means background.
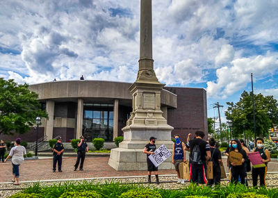
[{"label": "woman in white top walking on the left, seen from behind", "polygon": [[21,139],[17,138],[17,140],[15,140],[15,147],[13,147],[12,149],[10,149],[10,154],[8,155],[8,157],[6,158],[6,160],[4,161],[6,163],[6,161],[12,158],[12,165],[13,165],[13,179],[12,181],[15,182],[14,185],[19,185],[19,165],[22,165],[22,163],[24,162],[24,155],[26,155],[26,149],[25,147],[20,146],[21,143]]}]

